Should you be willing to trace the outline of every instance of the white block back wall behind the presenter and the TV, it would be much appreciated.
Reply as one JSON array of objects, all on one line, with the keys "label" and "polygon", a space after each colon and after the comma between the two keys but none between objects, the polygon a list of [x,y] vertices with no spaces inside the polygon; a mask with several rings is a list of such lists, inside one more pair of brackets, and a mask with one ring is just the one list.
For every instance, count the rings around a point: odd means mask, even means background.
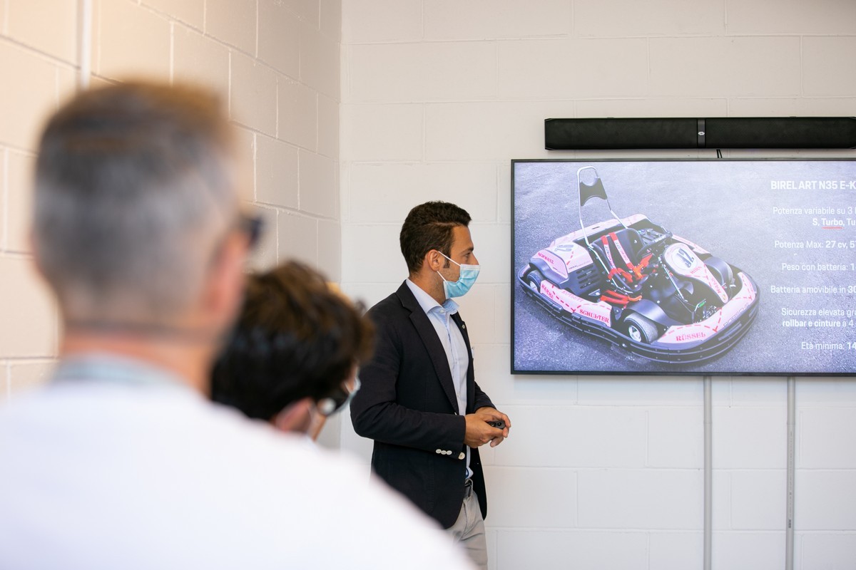
[{"label": "white block back wall behind the presenter and the TV", "polygon": [[[547,117],[856,115],[854,56],[856,4],[834,0],[343,0],[342,283],[369,304],[401,283],[413,205],[473,215],[461,313],[514,421],[484,453],[493,570],[703,559],[701,379],[509,373],[509,161],[712,156],[546,151]],[[786,381],[716,378],[713,405],[713,567],[782,568]],[[853,567],[856,382],[798,379],[797,405],[795,567]]]}]

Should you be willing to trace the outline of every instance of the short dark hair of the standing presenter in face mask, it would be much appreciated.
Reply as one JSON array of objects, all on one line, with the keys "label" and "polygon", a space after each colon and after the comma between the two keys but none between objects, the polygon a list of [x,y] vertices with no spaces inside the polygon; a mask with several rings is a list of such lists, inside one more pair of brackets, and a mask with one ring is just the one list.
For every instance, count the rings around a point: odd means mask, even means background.
[{"label": "short dark hair of the standing presenter in face mask", "polygon": [[455,226],[469,226],[470,220],[467,210],[448,202],[426,202],[410,210],[399,235],[407,270],[411,274],[419,272],[425,254],[431,250],[450,256],[452,230]]}]

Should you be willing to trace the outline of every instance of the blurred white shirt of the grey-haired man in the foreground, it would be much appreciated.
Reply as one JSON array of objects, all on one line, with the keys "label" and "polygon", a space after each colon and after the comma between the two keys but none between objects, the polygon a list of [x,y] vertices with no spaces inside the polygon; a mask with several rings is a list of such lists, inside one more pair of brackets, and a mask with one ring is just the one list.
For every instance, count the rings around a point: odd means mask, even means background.
[{"label": "blurred white shirt of the grey-haired man in the foreground", "polygon": [[65,361],[0,462],[3,568],[471,568],[365,467],[138,361]]}]

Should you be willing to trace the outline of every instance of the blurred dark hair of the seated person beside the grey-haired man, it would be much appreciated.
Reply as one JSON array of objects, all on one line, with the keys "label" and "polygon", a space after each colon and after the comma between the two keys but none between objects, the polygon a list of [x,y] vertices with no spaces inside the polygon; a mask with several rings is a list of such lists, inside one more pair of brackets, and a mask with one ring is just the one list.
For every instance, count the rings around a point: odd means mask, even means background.
[{"label": "blurred dark hair of the seated person beside the grey-haired man", "polygon": [[215,402],[271,420],[305,397],[330,397],[372,357],[371,320],[317,271],[289,261],[247,279],[241,315],[214,366]]}]

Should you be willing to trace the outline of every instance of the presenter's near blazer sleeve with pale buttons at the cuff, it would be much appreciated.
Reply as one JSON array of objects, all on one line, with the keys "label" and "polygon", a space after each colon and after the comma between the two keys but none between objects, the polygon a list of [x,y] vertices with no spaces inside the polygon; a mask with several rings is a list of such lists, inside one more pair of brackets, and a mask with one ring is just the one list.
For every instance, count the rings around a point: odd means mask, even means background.
[{"label": "presenter's near blazer sleeve with pale buttons at the cuff", "polygon": [[[411,350],[421,350],[421,346],[413,346],[413,338],[402,338],[401,327],[409,323],[375,310],[369,316],[376,326],[375,355],[360,367],[360,390],[351,402],[354,431],[377,442],[419,450],[461,449],[467,426],[462,415],[431,411],[431,403],[426,403],[426,409],[407,408],[398,403],[399,381],[425,381],[425,378],[401,379],[403,351],[408,345]],[[431,368],[430,362],[427,367]],[[433,374],[433,370],[423,373]],[[456,458],[456,454],[453,456]]]}]

